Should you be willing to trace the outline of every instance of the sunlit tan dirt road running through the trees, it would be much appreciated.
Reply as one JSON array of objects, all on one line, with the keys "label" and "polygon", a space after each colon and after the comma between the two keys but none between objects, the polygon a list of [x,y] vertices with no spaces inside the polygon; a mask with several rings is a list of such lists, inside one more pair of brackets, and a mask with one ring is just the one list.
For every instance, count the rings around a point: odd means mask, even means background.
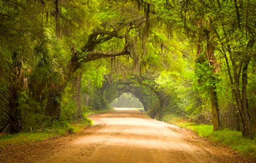
[{"label": "sunlit tan dirt road running through the trees", "polygon": [[[192,131],[145,117],[136,110],[90,115],[95,124],[80,134],[14,144],[2,163],[247,163],[230,148]],[[249,162],[248,162],[249,163]]]}]

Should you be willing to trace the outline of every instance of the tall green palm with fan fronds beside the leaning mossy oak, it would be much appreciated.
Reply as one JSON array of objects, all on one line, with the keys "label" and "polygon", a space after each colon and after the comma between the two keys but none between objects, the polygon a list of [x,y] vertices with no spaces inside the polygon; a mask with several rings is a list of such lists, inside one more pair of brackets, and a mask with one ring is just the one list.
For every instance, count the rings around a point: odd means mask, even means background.
[{"label": "tall green palm with fan fronds beside the leaning mossy oak", "polygon": [[[53,33],[46,29],[45,39],[35,47],[36,64],[31,75],[33,81],[30,82],[30,87],[32,87],[31,90],[37,91],[37,95],[42,94],[44,90],[42,87],[57,88],[65,80],[65,68],[69,60],[68,52]],[[41,88],[37,89],[37,87]]]}]

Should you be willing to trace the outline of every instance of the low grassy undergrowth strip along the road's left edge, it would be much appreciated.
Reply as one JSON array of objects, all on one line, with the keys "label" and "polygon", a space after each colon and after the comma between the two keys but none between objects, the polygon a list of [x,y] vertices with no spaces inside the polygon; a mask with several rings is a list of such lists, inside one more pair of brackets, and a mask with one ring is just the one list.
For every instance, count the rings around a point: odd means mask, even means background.
[{"label": "low grassy undergrowth strip along the road's left edge", "polygon": [[93,120],[87,118],[87,115],[100,114],[113,111],[113,108],[102,110],[90,110],[86,114],[83,114],[83,119],[78,121],[46,121],[43,127],[37,128],[31,131],[24,131],[19,134],[13,135],[0,135],[0,149],[11,144],[30,143],[36,141],[46,140],[52,136],[63,136],[66,134],[79,133],[84,131],[85,128],[93,125]]}]

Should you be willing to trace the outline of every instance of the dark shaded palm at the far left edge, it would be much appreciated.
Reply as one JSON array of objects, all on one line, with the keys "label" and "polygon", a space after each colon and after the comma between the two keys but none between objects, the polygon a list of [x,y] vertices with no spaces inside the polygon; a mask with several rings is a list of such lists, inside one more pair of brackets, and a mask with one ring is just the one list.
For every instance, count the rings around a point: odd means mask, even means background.
[{"label": "dark shaded palm at the far left edge", "polygon": [[18,133],[22,129],[20,110],[18,108],[19,94],[23,88],[24,72],[21,53],[12,53],[12,68],[10,75],[0,79],[0,132]]}]

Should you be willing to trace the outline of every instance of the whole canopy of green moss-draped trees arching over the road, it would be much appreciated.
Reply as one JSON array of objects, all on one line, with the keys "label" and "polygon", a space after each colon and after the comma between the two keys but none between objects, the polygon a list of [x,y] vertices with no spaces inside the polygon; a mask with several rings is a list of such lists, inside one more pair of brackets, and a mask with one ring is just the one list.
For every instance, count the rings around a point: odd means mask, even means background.
[{"label": "whole canopy of green moss-draped trees arching over the road", "polygon": [[0,0],[0,132],[131,93],[151,118],[256,133],[256,1]]}]

